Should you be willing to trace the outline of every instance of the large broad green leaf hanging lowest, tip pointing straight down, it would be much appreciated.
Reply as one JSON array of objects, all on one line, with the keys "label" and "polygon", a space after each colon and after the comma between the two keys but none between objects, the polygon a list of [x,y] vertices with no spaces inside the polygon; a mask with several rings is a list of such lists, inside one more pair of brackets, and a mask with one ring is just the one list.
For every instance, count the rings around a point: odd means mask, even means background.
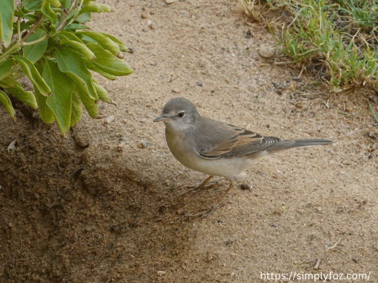
[{"label": "large broad green leaf hanging lowest, tip pointing straight down", "polygon": [[54,113],[61,133],[65,135],[71,124],[73,84],[71,80],[59,70],[58,64],[50,59],[46,59],[42,78],[52,90],[51,95],[46,100],[46,104]]}]

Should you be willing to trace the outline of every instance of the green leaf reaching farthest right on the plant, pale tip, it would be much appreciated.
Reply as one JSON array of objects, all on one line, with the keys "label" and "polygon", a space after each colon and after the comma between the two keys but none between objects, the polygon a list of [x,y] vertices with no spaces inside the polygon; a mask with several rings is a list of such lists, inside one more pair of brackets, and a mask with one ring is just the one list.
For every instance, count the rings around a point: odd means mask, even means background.
[{"label": "green leaf reaching farthest right on the plant, pale tip", "polygon": [[93,60],[92,63],[98,69],[114,76],[126,76],[133,72],[133,69],[131,69],[124,60],[115,57],[98,44],[90,41],[85,44],[95,54],[96,59]]}]

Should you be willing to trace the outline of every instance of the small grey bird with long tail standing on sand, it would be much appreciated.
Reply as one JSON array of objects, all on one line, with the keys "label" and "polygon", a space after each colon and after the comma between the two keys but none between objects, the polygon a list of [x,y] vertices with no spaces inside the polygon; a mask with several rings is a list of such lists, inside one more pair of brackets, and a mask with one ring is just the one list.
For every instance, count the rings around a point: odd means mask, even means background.
[{"label": "small grey bird with long tail standing on sand", "polygon": [[[330,140],[281,140],[263,137],[252,131],[203,117],[186,98],[169,100],[154,122],[165,124],[165,139],[173,156],[186,167],[210,175],[197,192],[213,176],[225,177],[230,185],[224,195],[211,207],[190,218],[204,217],[222,205],[222,201],[236,185],[237,178],[260,157],[294,147],[326,145]],[[186,194],[184,193],[184,194]]]}]

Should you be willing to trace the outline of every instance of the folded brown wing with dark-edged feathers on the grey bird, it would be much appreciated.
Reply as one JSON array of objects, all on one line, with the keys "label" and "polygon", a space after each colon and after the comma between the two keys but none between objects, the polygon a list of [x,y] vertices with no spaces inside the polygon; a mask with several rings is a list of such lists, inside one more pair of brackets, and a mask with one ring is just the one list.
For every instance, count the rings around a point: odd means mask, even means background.
[{"label": "folded brown wing with dark-edged feathers on the grey bird", "polygon": [[[206,124],[209,125],[209,122]],[[197,138],[197,154],[209,159],[247,155],[281,141],[279,138],[263,137],[238,126],[216,121],[213,128],[201,132],[206,135],[201,135],[202,139]]]}]

